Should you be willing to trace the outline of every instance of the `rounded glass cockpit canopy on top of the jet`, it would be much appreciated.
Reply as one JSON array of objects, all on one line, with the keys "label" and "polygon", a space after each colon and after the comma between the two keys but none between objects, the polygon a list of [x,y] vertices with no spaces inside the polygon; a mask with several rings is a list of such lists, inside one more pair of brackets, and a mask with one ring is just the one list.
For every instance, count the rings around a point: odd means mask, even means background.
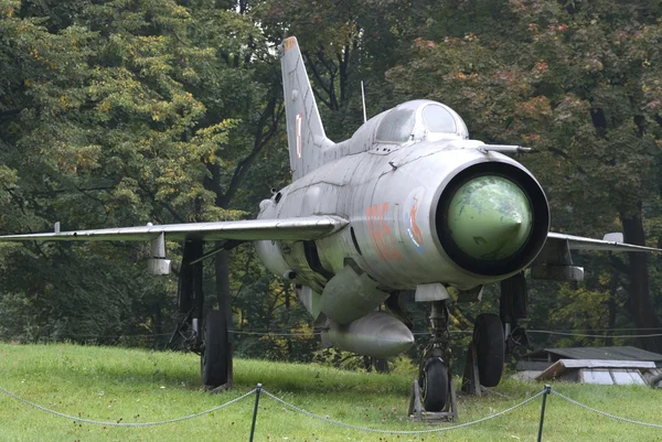
[{"label": "rounded glass cockpit canopy on top of the jet", "polygon": [[377,142],[468,139],[462,118],[446,105],[413,100],[388,110],[377,128]]}]

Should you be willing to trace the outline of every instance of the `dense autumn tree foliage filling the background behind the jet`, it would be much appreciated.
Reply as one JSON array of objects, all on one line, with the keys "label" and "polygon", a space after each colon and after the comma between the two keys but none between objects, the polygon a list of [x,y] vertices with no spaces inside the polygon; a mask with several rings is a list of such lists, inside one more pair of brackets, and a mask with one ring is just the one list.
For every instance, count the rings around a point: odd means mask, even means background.
[{"label": "dense autumn tree foliage filling the background behind the jet", "polygon": [[[554,229],[660,247],[661,15],[651,0],[0,0],[0,230],[255,214],[289,176],[275,52],[289,34],[332,139],[362,122],[361,80],[369,116],[436,99],[472,138],[536,149],[521,161]],[[152,344],[130,336],[171,331],[177,283],[147,274],[145,256],[131,244],[0,245],[0,337]],[[662,328],[661,257],[577,260],[579,288],[531,284],[530,326]],[[312,357],[293,291],[250,247],[214,263],[209,301],[231,295],[238,332],[303,334],[239,334],[238,352]],[[495,309],[495,291],[487,298]],[[470,330],[477,311],[453,306],[455,325]],[[564,338],[578,342],[634,343]],[[662,352],[660,338],[637,344]]]}]

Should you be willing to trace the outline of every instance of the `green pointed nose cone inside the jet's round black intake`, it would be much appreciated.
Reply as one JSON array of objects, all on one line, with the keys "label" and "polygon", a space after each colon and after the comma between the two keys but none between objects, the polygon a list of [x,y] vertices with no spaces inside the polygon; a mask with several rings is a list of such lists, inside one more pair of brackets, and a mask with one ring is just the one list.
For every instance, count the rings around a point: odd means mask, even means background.
[{"label": "green pointed nose cone inside the jet's round black intake", "polygon": [[457,247],[471,258],[500,260],[523,247],[533,226],[532,204],[522,188],[499,175],[462,184],[448,206],[448,228]]}]

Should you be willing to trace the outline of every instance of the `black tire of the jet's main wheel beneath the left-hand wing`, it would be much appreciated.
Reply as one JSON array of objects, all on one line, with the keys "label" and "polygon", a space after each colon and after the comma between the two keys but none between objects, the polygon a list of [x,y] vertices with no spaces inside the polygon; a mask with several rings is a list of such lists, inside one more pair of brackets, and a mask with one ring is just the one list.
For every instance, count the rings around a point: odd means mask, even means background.
[{"label": "black tire of the jet's main wheel beneath the left-hand wing", "polygon": [[225,314],[212,310],[204,322],[204,352],[200,356],[200,374],[204,385],[218,387],[227,384],[228,357],[229,344]]}]

